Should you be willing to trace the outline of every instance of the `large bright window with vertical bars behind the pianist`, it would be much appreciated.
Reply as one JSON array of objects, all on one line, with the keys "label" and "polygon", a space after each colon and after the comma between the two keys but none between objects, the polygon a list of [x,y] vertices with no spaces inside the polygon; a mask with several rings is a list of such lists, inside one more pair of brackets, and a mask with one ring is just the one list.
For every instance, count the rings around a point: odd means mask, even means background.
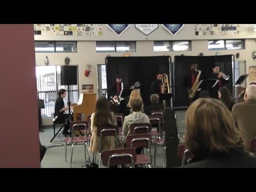
[{"label": "large bright window with vertical bars behind the pianist", "polygon": [[[44,100],[45,108],[41,109],[42,118],[53,117],[58,91],[60,89],[68,91],[68,86],[60,85],[60,66],[36,66],[36,82],[39,99]],[[69,91],[70,102],[77,103],[79,95],[78,85],[70,85]],[[68,94],[63,100],[65,106],[67,106]]]}]

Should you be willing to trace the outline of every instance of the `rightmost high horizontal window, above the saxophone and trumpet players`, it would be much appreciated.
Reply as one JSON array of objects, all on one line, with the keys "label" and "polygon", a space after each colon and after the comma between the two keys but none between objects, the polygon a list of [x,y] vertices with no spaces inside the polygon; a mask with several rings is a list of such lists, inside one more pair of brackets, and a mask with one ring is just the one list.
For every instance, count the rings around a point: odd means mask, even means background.
[{"label": "rightmost high horizontal window, above the saxophone and trumpet players", "polygon": [[238,50],[244,49],[244,39],[211,40],[208,41],[208,50]]}]

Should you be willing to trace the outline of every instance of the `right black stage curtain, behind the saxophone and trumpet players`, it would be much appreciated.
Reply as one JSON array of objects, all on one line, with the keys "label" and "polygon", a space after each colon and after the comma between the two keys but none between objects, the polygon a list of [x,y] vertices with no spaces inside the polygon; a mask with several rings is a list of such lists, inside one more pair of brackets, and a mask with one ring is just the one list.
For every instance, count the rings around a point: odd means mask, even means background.
[{"label": "right black stage curtain, behind the saxophone and trumpet players", "polygon": [[208,79],[214,65],[220,66],[220,71],[229,75],[228,89],[233,90],[232,57],[234,55],[216,56],[175,56],[174,57],[174,107],[188,106],[187,87],[183,86],[183,79],[190,71],[190,64],[197,63],[197,69],[202,71],[201,78]]}]

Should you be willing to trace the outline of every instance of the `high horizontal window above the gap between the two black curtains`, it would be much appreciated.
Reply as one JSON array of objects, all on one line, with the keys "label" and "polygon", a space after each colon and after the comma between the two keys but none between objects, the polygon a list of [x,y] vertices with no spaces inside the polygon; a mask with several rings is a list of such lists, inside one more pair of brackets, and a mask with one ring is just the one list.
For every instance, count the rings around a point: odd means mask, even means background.
[{"label": "high horizontal window above the gap between the two black curtains", "polygon": [[190,51],[190,41],[157,41],[154,51]]}]

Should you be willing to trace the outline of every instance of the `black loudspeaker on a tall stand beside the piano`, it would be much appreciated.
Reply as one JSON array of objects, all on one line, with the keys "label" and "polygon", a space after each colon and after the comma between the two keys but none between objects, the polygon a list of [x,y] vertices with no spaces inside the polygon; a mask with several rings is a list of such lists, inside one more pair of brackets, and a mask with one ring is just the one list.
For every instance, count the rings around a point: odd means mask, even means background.
[{"label": "black loudspeaker on a tall stand beside the piano", "polygon": [[77,66],[60,67],[60,84],[77,85]]}]

